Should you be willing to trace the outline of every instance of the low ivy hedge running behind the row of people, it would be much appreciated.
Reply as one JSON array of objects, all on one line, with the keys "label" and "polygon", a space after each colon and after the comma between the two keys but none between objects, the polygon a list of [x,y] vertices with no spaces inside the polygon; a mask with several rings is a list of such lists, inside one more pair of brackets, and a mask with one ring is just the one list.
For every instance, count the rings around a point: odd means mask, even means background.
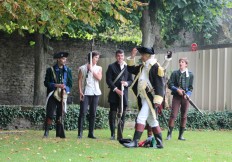
[{"label": "low ivy hedge running behind the row of people", "polygon": [[[96,114],[96,124],[95,127],[98,129],[108,128],[108,112],[109,109],[98,107]],[[166,121],[169,118],[170,111],[163,110]],[[130,112],[126,116],[126,120],[135,120],[137,113]],[[31,122],[33,126],[40,126],[44,123],[45,119],[45,109],[43,106],[36,107],[25,107],[25,106],[11,106],[11,105],[0,105],[0,128],[5,129],[14,119],[24,118]],[[75,130],[77,129],[77,121],[79,116],[79,105],[69,105],[67,114],[65,115],[65,129]],[[84,128],[88,128],[87,122],[88,114],[84,122]],[[175,128],[179,127],[178,116],[175,122]],[[159,116],[160,126],[166,128],[164,118]],[[54,122],[53,122],[54,123]],[[232,129],[232,112],[211,112],[201,115],[194,109],[190,109],[188,113],[188,129]],[[54,128],[54,125],[53,125]]]}]

